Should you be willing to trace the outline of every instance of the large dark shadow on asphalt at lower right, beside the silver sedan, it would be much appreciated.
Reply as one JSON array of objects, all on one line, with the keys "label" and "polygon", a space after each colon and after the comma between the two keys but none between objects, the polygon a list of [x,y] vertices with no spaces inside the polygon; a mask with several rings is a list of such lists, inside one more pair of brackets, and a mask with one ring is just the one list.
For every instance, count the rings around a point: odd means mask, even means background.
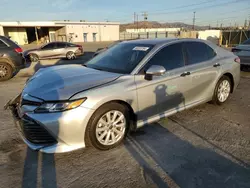
[{"label": "large dark shadow on asphalt at lower right, beside the silver sedan", "polygon": [[166,183],[146,162],[149,158],[180,187],[250,187],[249,166],[194,146],[158,123],[131,134],[125,147],[158,187]]}]

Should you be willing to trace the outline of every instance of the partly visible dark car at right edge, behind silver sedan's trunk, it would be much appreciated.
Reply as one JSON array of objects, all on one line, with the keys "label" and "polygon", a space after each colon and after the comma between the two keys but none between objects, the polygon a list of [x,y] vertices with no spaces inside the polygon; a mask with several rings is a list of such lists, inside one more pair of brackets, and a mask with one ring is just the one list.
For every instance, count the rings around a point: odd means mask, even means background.
[{"label": "partly visible dark car at right edge, behind silver sedan's trunk", "polygon": [[239,56],[242,67],[250,66],[250,39],[232,48],[232,52]]}]

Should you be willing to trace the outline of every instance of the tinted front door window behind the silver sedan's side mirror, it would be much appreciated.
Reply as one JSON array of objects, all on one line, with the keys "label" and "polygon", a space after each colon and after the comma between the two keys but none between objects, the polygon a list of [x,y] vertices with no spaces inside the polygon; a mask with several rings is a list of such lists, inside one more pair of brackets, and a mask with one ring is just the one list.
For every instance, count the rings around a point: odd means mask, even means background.
[{"label": "tinted front door window behind the silver sedan's side mirror", "polygon": [[172,44],[161,49],[149,60],[144,70],[147,70],[151,65],[161,65],[166,70],[183,67],[182,43]]}]

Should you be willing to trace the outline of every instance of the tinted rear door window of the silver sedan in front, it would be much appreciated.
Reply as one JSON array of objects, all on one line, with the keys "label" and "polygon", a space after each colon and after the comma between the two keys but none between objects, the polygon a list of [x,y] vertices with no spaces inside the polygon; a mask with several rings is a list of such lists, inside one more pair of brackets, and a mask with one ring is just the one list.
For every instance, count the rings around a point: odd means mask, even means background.
[{"label": "tinted rear door window of the silver sedan in front", "polygon": [[197,64],[208,61],[216,56],[215,51],[205,43],[202,42],[186,42],[187,64]]}]

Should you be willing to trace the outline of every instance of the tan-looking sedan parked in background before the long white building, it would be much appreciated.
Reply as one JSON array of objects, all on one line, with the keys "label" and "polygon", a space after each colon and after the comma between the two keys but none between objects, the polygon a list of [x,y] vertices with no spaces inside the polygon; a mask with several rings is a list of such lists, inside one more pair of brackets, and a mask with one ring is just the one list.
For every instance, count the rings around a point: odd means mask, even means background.
[{"label": "tan-looking sedan parked in background before the long white building", "polygon": [[81,45],[69,42],[51,42],[38,49],[31,49],[24,52],[27,59],[37,62],[39,59],[67,58],[75,59],[83,54]]}]

